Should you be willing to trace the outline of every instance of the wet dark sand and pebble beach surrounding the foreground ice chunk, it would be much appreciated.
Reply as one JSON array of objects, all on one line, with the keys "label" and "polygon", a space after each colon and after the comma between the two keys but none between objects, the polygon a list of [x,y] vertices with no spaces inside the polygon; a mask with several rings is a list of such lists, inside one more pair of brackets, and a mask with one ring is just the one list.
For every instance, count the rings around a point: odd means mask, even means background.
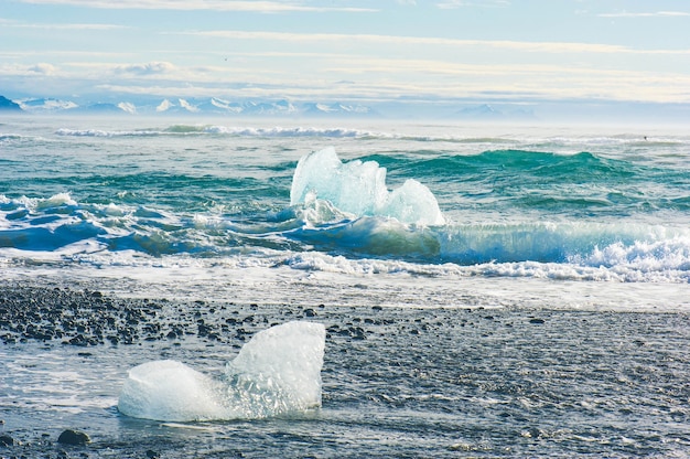
[{"label": "wet dark sand and pebble beach surrounding the foreground ice chunk", "polygon": [[[290,320],[327,329],[315,414],[179,426],[61,410],[23,401],[31,372],[9,370],[40,353],[107,378],[117,399],[128,367],[217,369]],[[683,312],[180,302],[4,282],[0,340],[2,458],[690,456]],[[89,441],[60,442],[67,429]]]}]

